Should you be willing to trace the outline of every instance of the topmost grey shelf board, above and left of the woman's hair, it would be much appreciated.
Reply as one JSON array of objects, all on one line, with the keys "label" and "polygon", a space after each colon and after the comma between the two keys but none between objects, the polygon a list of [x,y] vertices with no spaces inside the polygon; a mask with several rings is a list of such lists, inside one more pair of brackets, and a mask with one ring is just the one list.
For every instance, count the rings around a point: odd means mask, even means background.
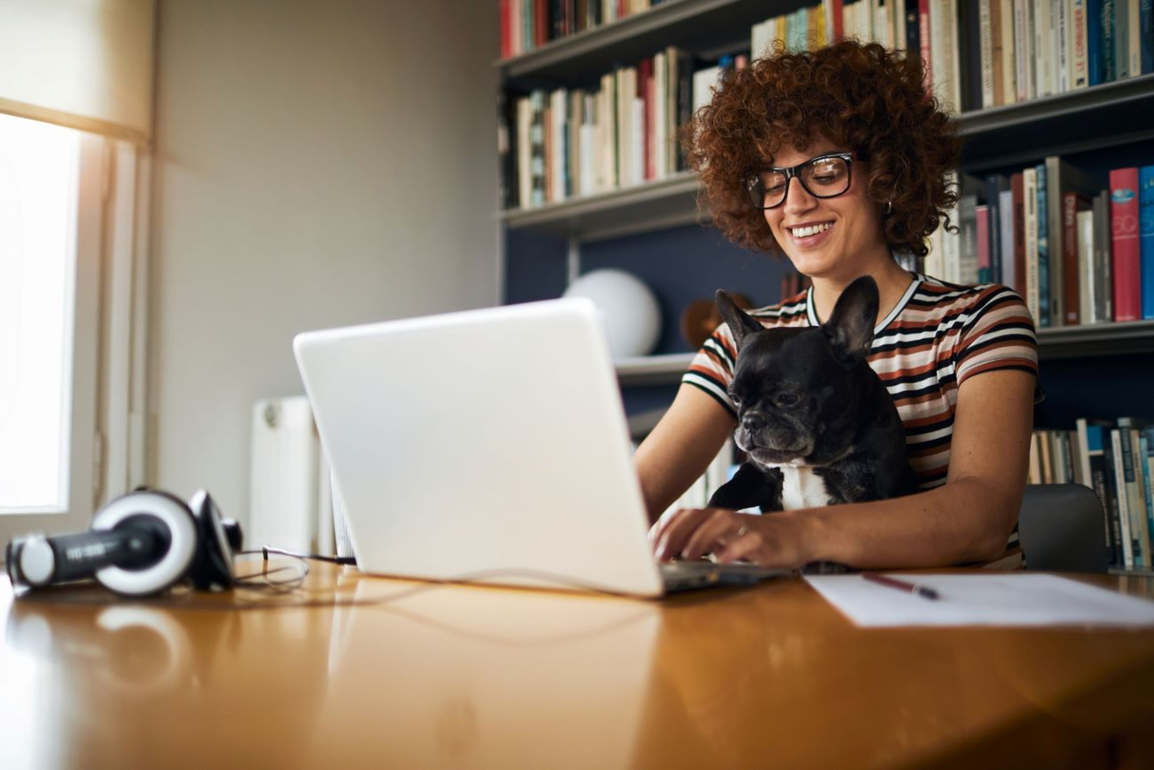
[{"label": "topmost grey shelf board, above and left of the woman's hair", "polygon": [[501,80],[511,81],[515,88],[580,85],[669,45],[703,58],[742,45],[748,48],[754,24],[796,5],[796,0],[666,0],[643,13],[500,60],[494,67]]}]

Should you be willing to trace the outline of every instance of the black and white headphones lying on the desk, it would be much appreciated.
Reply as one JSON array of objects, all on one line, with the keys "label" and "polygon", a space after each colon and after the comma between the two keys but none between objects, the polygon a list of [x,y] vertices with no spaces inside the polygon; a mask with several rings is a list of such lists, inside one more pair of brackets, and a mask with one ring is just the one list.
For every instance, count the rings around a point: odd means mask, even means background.
[{"label": "black and white headphones lying on the desk", "polygon": [[186,578],[200,590],[232,588],[240,544],[240,524],[222,519],[208,492],[186,504],[137,489],[98,510],[87,532],[13,540],[5,561],[20,592],[95,577],[120,596],[144,597]]}]

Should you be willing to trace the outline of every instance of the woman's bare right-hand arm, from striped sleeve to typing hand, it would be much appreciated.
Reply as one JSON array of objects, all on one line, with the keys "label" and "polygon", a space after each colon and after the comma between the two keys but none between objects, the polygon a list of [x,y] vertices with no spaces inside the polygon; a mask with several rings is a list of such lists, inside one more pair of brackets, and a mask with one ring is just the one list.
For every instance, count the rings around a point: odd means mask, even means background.
[{"label": "woman's bare right-hand arm, from striped sleeve to typing hand", "polygon": [[1033,394],[1034,376],[1018,371],[984,372],[962,382],[950,470],[936,489],[769,516],[679,511],[654,528],[658,556],[695,559],[712,552],[722,561],[786,568],[810,561],[941,567],[997,558],[1021,506]]}]

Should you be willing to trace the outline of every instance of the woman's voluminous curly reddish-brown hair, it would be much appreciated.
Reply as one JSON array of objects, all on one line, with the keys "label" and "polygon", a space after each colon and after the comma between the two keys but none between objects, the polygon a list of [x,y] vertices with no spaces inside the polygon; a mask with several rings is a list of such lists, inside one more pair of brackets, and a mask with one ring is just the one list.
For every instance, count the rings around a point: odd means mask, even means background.
[{"label": "woman's voluminous curly reddish-brown hair", "polygon": [[941,219],[953,230],[946,210],[958,192],[947,173],[958,167],[961,140],[923,77],[920,57],[856,40],[779,50],[729,73],[681,133],[713,223],[739,246],[780,255],[743,180],[787,142],[804,150],[816,133],[868,162],[870,200],[893,202],[883,218],[890,247],[926,256],[926,237]]}]

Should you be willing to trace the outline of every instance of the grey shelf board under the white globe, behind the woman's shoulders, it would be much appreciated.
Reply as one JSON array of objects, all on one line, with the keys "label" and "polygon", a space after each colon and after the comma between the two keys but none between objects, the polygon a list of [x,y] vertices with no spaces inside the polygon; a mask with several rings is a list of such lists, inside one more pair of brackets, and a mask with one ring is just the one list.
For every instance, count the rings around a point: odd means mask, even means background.
[{"label": "grey shelf board under the white globe, behind the woman's shoulders", "polygon": [[[1087,358],[1154,352],[1154,321],[1094,323],[1039,329],[1037,357]],[[616,361],[623,386],[670,384],[681,379],[694,353],[645,356]]]}]

